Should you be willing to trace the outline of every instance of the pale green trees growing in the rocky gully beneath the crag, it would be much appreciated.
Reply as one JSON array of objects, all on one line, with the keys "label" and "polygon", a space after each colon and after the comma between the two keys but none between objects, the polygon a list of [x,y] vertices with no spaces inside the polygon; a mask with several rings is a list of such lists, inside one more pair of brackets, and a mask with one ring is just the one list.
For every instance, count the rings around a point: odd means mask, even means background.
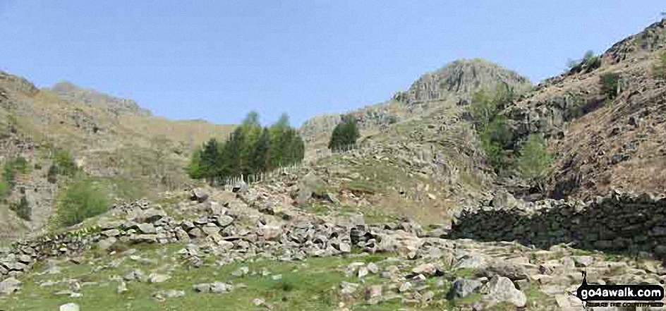
[{"label": "pale green trees growing in the rocky gully beneath the crag", "polygon": [[509,85],[502,83],[497,86],[494,94],[483,90],[476,92],[469,111],[475,121],[481,148],[485,151],[490,164],[498,172],[512,167],[527,181],[540,185],[551,164],[543,135],[537,133],[529,135],[520,145],[520,149],[514,152],[517,156],[516,161],[509,161],[507,156],[517,144],[507,125],[507,118],[500,115],[500,111],[513,100],[513,90]]}]

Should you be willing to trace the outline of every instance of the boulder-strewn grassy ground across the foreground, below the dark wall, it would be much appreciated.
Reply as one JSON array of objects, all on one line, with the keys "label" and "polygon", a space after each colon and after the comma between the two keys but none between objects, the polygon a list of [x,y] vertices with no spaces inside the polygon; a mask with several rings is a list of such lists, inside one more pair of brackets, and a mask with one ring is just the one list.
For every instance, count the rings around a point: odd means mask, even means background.
[{"label": "boulder-strewn grassy ground across the foreground, below the dark wall", "polygon": [[[286,180],[289,184],[293,181]],[[580,310],[591,283],[663,283],[661,262],[514,242],[449,240],[437,226],[313,214],[276,183],[119,205],[99,242],[27,261],[0,283],[4,310]],[[303,183],[296,183],[307,189]],[[202,191],[199,191],[201,193]],[[298,190],[300,199],[307,194]],[[286,203],[289,204],[286,204]],[[109,229],[111,224],[119,224]],[[372,224],[371,224],[372,223]],[[184,233],[184,234],[183,234]],[[10,258],[12,257],[12,258]],[[16,263],[15,262],[15,263]],[[18,266],[14,264],[13,266]],[[32,267],[32,269],[30,269]]]}]

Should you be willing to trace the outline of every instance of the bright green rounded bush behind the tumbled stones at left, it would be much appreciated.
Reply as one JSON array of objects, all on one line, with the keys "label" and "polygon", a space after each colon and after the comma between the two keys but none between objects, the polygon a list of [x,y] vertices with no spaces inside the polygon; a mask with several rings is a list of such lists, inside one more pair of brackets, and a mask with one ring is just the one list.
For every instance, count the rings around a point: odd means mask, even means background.
[{"label": "bright green rounded bush behind the tumbled stones at left", "polygon": [[84,179],[68,185],[58,205],[61,225],[73,226],[107,212],[109,196],[92,181]]}]

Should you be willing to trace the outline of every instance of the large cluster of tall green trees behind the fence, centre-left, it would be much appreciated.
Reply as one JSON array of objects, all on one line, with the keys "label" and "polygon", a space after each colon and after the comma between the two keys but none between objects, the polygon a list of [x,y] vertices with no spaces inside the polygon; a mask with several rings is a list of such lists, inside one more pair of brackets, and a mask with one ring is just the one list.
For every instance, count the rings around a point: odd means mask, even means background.
[{"label": "large cluster of tall green trees behind the fence, centre-left", "polygon": [[213,138],[196,150],[187,171],[192,178],[214,183],[296,164],[304,155],[305,144],[289,125],[289,116],[283,114],[272,126],[262,128],[259,115],[251,111],[226,141]]}]

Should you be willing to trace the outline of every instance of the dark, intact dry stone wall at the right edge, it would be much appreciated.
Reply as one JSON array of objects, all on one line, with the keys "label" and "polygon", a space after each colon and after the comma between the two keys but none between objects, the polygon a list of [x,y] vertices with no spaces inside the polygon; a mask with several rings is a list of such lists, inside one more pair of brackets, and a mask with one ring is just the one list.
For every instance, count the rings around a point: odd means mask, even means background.
[{"label": "dark, intact dry stone wall at the right edge", "polygon": [[527,207],[483,207],[463,212],[449,232],[452,238],[517,240],[548,248],[648,252],[666,257],[666,197],[612,193],[590,202],[545,200]]}]

